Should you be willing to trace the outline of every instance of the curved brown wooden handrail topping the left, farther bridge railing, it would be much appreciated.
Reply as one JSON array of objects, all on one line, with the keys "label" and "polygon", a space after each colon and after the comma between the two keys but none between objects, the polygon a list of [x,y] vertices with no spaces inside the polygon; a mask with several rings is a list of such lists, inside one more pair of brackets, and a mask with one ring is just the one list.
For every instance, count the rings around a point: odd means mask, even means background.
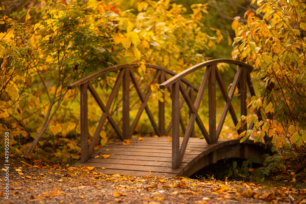
[{"label": "curved brown wooden handrail topping the left, farther bridge railing", "polygon": [[[88,82],[88,81],[90,81],[90,80],[92,80],[92,79],[94,79],[94,78],[96,78],[98,76],[106,74],[107,72],[113,72],[113,71],[116,71],[116,70],[122,69],[122,68],[138,67],[138,66],[140,66],[140,64],[138,64],[138,63],[114,65],[114,66],[108,67],[106,69],[102,69],[102,70],[100,70],[98,72],[92,73],[92,74],[90,74],[88,76],[85,76],[85,77],[83,77],[83,78],[81,78],[81,79],[79,79],[79,80],[69,84],[67,86],[67,89],[74,89],[75,87],[78,87],[81,84],[84,84],[84,83],[86,83],[86,82]],[[162,71],[164,71],[164,72],[166,72],[168,74],[171,74],[172,76],[175,76],[177,74],[177,73],[175,73],[175,72],[173,72],[173,71],[171,71],[169,69],[166,69],[166,68],[158,66],[158,65],[145,64],[145,66],[149,67],[149,68],[154,68],[154,69],[162,70]],[[188,86],[191,86],[194,90],[196,90],[196,91],[199,90],[196,86],[194,86],[188,80],[182,79],[182,81],[184,83],[186,83]]]}]

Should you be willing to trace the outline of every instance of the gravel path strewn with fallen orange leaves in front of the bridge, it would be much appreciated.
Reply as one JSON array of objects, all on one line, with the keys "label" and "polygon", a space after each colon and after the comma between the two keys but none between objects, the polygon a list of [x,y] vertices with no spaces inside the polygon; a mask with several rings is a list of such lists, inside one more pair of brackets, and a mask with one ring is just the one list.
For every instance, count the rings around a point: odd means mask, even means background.
[{"label": "gravel path strewn with fallen orange leaves in front of the bridge", "polygon": [[[4,159],[0,159],[4,163]],[[92,167],[29,165],[10,158],[9,200],[1,170],[0,203],[306,203],[306,189],[192,180],[104,175]]]}]

